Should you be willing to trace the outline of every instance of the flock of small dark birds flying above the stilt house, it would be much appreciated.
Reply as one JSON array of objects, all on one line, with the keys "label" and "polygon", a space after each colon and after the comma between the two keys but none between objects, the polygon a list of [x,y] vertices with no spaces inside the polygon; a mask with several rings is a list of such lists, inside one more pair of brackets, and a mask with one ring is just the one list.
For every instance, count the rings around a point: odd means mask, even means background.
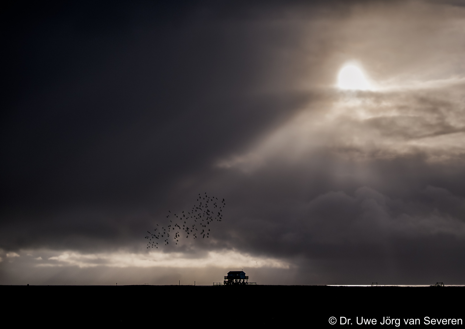
[{"label": "flock of small dark birds flying above the stilt house", "polygon": [[153,233],[147,231],[149,234],[145,236],[145,239],[148,239],[147,249],[161,247],[162,243],[167,246],[170,242],[170,235],[173,239],[171,242],[175,244],[178,244],[179,239],[184,235],[186,235],[186,239],[189,237],[193,239],[199,237],[202,237],[202,239],[208,238],[211,232],[210,223],[213,220],[221,222],[223,219],[222,208],[226,206],[225,199],[218,200],[214,196],[208,196],[205,192],[205,195],[200,195],[199,193],[197,201],[199,203],[194,204],[192,209],[187,213],[182,211],[181,213],[173,214],[168,210],[166,218],[169,219],[170,223],[166,227],[159,227],[157,224]]}]

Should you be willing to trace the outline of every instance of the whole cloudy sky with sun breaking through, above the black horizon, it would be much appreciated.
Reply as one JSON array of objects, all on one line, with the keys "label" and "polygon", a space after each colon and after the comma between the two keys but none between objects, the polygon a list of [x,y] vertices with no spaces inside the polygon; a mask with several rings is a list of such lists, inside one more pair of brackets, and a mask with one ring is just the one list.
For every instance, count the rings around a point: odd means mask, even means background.
[{"label": "whole cloudy sky with sun breaking through, above the black horizon", "polygon": [[2,11],[0,284],[464,283],[465,2],[164,2]]}]

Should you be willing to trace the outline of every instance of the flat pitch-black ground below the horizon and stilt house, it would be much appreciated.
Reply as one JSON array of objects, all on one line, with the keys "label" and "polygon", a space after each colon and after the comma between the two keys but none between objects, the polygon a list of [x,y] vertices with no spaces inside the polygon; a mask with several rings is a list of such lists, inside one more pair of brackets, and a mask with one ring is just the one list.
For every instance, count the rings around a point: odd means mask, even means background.
[{"label": "flat pitch-black ground below the horizon and stilt house", "polygon": [[[464,327],[425,324],[425,317],[464,319],[464,292],[465,287],[0,286],[2,313],[18,324],[124,327]],[[362,317],[377,322],[359,324]],[[399,319],[399,326],[386,323],[388,317]],[[405,324],[412,318],[420,324]]]}]

